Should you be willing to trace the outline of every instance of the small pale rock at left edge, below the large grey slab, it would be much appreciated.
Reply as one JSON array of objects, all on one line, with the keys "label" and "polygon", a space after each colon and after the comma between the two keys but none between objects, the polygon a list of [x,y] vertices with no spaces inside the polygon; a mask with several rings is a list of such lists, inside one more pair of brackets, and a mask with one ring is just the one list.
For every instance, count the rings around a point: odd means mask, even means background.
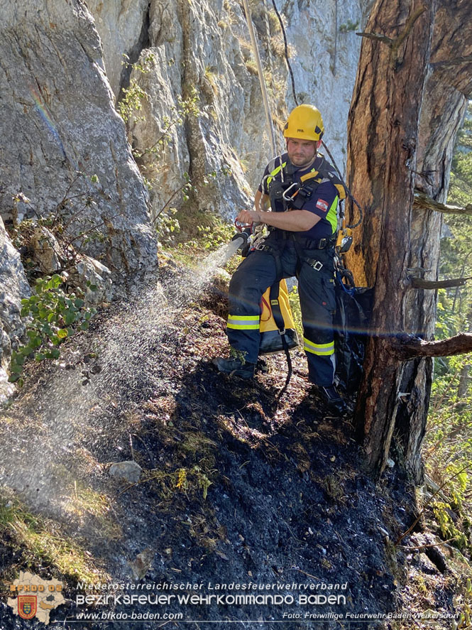
[{"label": "small pale rock at left edge, below the large grey slab", "polygon": [[20,317],[21,298],[27,298],[30,293],[20,255],[11,244],[0,217],[0,402],[13,391],[6,367],[12,347],[25,332]]}]

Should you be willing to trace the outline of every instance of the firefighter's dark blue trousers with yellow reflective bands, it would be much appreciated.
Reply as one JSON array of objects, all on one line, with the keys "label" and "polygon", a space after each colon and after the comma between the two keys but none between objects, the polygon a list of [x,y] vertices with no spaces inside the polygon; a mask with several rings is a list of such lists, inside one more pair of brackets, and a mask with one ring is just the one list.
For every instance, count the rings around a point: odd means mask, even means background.
[{"label": "firefighter's dark blue trousers with yellow reflective bands", "polygon": [[275,243],[272,251],[253,251],[242,261],[229,284],[226,335],[231,347],[243,352],[247,362],[256,363],[262,295],[275,281],[297,276],[309,381],[329,386],[336,368],[334,252],[331,248],[303,249],[303,260],[300,253],[300,248],[296,249],[294,242],[287,239],[282,245]]}]

